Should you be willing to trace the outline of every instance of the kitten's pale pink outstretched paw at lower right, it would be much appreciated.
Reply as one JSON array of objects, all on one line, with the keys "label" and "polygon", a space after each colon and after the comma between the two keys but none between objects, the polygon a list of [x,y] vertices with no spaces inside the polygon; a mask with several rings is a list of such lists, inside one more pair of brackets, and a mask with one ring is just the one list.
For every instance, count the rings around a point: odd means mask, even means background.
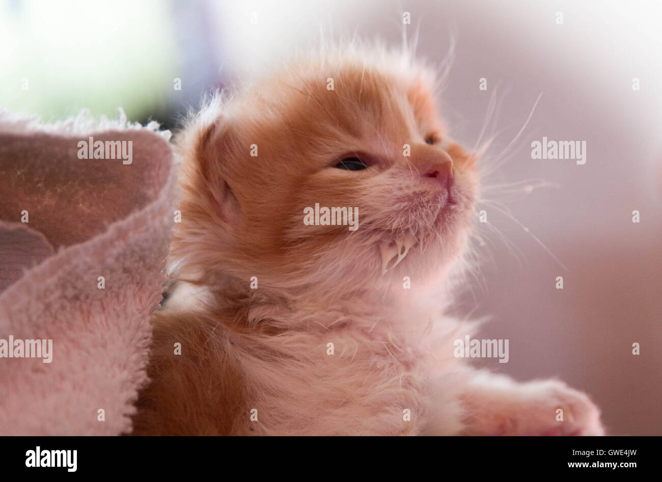
[{"label": "kitten's pale pink outstretched paw at lower right", "polygon": [[521,435],[604,435],[600,409],[585,393],[557,380],[533,381],[523,388],[536,395],[522,407]]}]

